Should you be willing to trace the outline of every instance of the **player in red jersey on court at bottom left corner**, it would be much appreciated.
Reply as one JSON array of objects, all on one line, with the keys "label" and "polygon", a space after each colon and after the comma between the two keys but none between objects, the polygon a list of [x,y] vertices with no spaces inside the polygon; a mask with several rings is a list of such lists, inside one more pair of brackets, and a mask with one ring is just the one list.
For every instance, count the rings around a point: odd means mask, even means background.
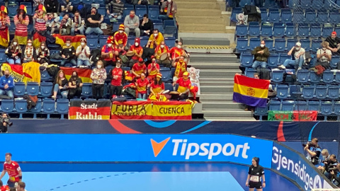
[{"label": "player in red jersey on court at bottom left corner", "polygon": [[9,187],[15,187],[18,182],[21,182],[23,179],[23,173],[21,172],[21,168],[18,163],[15,161],[12,161],[12,154],[6,153],[5,154],[5,163],[4,163],[4,170],[2,170],[2,173],[0,175],[1,178],[4,177],[6,172],[8,173],[9,179],[7,181],[7,185]]}]

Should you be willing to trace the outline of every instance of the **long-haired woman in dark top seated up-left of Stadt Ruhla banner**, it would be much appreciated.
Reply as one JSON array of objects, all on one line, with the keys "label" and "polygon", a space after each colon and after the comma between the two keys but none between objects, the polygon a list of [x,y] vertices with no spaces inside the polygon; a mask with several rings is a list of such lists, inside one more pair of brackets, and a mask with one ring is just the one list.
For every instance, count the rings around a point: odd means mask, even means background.
[{"label": "long-haired woman in dark top seated up-left of Stadt Ruhla banner", "polygon": [[57,94],[60,94],[63,99],[67,99],[67,79],[65,78],[65,73],[63,70],[58,71],[57,78],[55,78],[53,96],[52,99],[57,98]]}]

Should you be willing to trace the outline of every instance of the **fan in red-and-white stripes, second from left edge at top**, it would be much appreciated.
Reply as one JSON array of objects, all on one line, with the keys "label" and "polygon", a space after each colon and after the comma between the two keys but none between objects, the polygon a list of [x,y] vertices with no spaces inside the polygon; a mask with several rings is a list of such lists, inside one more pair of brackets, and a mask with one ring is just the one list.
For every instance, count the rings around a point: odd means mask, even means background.
[{"label": "fan in red-and-white stripes, second from left edge at top", "polygon": [[16,33],[14,38],[18,40],[19,45],[27,44],[27,26],[30,23],[30,18],[28,18],[26,6],[20,5],[18,8],[18,14],[14,16],[14,25],[16,25]]}]

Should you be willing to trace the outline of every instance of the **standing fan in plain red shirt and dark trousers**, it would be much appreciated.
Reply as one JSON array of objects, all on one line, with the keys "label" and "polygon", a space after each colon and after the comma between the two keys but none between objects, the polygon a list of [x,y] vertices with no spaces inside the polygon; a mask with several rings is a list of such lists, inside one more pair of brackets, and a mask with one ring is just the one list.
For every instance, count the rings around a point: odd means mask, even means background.
[{"label": "standing fan in plain red shirt and dark trousers", "polygon": [[120,59],[115,62],[115,68],[111,69],[108,76],[112,79],[110,86],[110,98],[122,95],[123,83],[125,83],[125,71],[120,67],[122,62]]}]

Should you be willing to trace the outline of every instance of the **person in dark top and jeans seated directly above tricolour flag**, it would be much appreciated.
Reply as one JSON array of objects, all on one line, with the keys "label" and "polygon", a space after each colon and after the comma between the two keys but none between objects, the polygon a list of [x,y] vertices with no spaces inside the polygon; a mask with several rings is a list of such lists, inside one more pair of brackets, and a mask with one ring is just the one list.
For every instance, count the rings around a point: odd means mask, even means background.
[{"label": "person in dark top and jeans seated directly above tricolour flag", "polygon": [[251,54],[255,57],[255,62],[253,63],[253,69],[257,69],[257,67],[261,66],[261,68],[265,69],[267,65],[267,60],[269,57],[269,50],[266,47],[266,42],[264,40],[261,41],[261,45],[259,47],[254,48]]}]

